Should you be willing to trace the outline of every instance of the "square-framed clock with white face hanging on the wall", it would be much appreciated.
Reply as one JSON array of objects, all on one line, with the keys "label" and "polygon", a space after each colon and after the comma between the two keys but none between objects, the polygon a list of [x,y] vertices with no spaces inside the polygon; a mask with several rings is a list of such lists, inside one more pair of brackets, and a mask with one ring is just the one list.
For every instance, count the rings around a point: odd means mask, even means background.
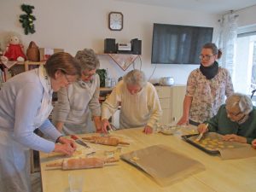
[{"label": "square-framed clock with white face hanging on the wall", "polygon": [[108,27],[113,31],[123,29],[124,15],[121,12],[110,12],[108,15]]}]

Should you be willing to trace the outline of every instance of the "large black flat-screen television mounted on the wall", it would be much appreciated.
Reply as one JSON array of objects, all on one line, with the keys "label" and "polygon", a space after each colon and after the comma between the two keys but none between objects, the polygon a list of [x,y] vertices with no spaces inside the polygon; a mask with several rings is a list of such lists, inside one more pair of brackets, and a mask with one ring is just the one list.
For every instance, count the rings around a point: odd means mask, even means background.
[{"label": "large black flat-screen television mounted on the wall", "polygon": [[213,27],[154,23],[151,63],[199,64],[204,44],[212,42]]}]

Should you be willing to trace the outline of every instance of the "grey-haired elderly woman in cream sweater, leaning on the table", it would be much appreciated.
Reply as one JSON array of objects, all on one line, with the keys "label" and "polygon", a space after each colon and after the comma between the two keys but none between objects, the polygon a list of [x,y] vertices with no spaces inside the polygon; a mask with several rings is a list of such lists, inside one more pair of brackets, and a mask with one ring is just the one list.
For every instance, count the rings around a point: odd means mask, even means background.
[{"label": "grey-haired elderly woman in cream sweater, leaning on the table", "polygon": [[153,132],[162,111],[154,85],[147,82],[143,72],[135,69],[127,73],[103,102],[102,131],[107,132],[108,119],[118,110],[119,104],[121,129],[143,126],[146,134]]}]

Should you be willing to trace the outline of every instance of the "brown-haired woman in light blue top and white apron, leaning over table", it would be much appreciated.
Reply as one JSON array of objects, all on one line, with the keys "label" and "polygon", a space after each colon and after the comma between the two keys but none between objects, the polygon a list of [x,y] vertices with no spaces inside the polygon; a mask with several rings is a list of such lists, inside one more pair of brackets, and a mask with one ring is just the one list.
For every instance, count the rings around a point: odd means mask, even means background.
[{"label": "brown-haired woman in light blue top and white apron, leaning over table", "polygon": [[[61,137],[48,119],[53,91],[76,81],[80,66],[61,52],[40,66],[9,79],[0,90],[0,191],[30,192],[29,149],[71,155],[72,140]],[[68,80],[67,80],[68,79]],[[39,129],[49,140],[34,133]]]}]

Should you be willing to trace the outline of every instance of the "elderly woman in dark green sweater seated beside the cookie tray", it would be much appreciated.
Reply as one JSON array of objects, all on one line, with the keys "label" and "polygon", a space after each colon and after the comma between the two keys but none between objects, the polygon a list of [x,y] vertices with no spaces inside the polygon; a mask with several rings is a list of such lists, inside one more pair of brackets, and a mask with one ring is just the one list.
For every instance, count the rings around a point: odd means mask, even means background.
[{"label": "elderly woman in dark green sweater seated beside the cookie tray", "polygon": [[252,143],[256,138],[256,108],[248,96],[234,93],[212,119],[198,125],[198,131],[218,132],[224,141]]}]

